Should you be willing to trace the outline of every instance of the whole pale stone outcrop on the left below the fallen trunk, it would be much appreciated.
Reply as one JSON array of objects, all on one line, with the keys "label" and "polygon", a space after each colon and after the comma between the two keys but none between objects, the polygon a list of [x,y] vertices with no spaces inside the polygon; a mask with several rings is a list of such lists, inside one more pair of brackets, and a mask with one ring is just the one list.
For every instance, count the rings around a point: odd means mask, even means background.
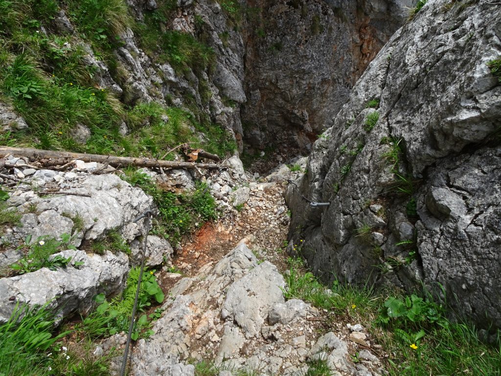
[{"label": "whole pale stone outcrop on the left below the fallen trunk", "polygon": [[[71,258],[66,267],[44,267],[1,278],[0,322],[9,319],[17,304],[49,303],[58,317],[63,317],[75,312],[87,314],[97,294],[119,294],[130,265],[138,263],[140,240],[146,232],[145,220],[132,221],[153,207],[152,198],[118,175],[92,174],[109,168],[96,162],[78,161],[69,171],[42,169],[36,162],[13,156],[0,162],[3,182],[17,179],[5,204],[20,215],[19,225],[0,228],[2,276],[12,275],[11,265],[26,258],[25,251],[38,246],[37,242],[43,247],[51,239],[64,237],[70,248],[78,247],[50,256]],[[130,259],[123,252],[111,250],[106,242],[102,254],[92,252],[92,243],[105,241],[112,231],[130,244]],[[173,252],[166,240],[155,236],[148,238],[147,246],[147,264],[152,266],[161,264],[164,256]]]}]

